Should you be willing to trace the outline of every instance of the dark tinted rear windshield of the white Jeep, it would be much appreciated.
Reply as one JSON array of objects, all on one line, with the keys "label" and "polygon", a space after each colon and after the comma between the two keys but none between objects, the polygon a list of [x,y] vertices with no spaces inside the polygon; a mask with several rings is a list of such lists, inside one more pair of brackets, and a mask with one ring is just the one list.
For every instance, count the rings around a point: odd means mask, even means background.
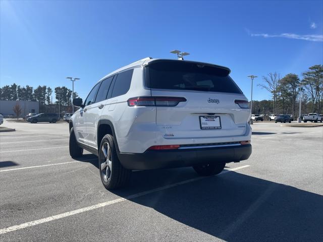
[{"label": "dark tinted rear windshield of the white Jeep", "polygon": [[180,61],[159,61],[149,64],[145,74],[148,88],[242,94],[228,76],[229,71],[219,67]]}]

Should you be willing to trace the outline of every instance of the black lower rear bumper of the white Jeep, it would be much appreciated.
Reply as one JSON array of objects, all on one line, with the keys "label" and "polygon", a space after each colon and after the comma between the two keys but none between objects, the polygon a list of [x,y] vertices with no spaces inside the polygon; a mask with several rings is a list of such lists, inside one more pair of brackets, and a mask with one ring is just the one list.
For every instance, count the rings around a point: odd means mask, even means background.
[{"label": "black lower rear bumper of the white Jeep", "polygon": [[238,162],[248,159],[251,151],[249,144],[216,148],[147,150],[144,153],[118,153],[118,157],[127,169],[148,170]]}]

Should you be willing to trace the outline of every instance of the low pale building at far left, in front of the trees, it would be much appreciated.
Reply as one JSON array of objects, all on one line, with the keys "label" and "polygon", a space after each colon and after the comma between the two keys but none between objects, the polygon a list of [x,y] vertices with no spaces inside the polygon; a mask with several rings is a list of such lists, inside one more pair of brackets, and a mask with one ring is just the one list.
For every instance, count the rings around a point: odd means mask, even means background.
[{"label": "low pale building at far left, in front of the trees", "polygon": [[21,108],[21,117],[26,116],[30,112],[39,112],[39,102],[37,101],[7,101],[0,100],[0,113],[3,115],[15,114],[13,108],[16,104],[19,104]]}]

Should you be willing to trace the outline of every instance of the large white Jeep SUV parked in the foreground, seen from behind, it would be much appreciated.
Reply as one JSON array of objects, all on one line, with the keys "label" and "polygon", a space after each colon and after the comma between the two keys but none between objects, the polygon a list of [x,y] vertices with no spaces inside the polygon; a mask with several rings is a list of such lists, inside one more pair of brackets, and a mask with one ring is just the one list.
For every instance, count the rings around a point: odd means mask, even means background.
[{"label": "large white Jeep SUV parked in the foreground, seen from behind", "polygon": [[70,155],[98,156],[106,189],[133,169],[193,166],[220,173],[251,154],[247,98],[212,64],[145,58],[98,81],[69,121]]}]

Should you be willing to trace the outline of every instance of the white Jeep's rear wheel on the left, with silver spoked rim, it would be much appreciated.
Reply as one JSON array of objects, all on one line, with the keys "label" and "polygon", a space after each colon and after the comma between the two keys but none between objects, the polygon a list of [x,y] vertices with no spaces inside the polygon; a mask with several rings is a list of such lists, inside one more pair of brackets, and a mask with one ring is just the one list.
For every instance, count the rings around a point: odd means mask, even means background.
[{"label": "white Jeep's rear wheel on the left, with silver spoked rim", "polygon": [[120,163],[112,135],[105,135],[101,140],[99,171],[105,189],[113,190],[129,183],[131,170],[124,168]]}]

